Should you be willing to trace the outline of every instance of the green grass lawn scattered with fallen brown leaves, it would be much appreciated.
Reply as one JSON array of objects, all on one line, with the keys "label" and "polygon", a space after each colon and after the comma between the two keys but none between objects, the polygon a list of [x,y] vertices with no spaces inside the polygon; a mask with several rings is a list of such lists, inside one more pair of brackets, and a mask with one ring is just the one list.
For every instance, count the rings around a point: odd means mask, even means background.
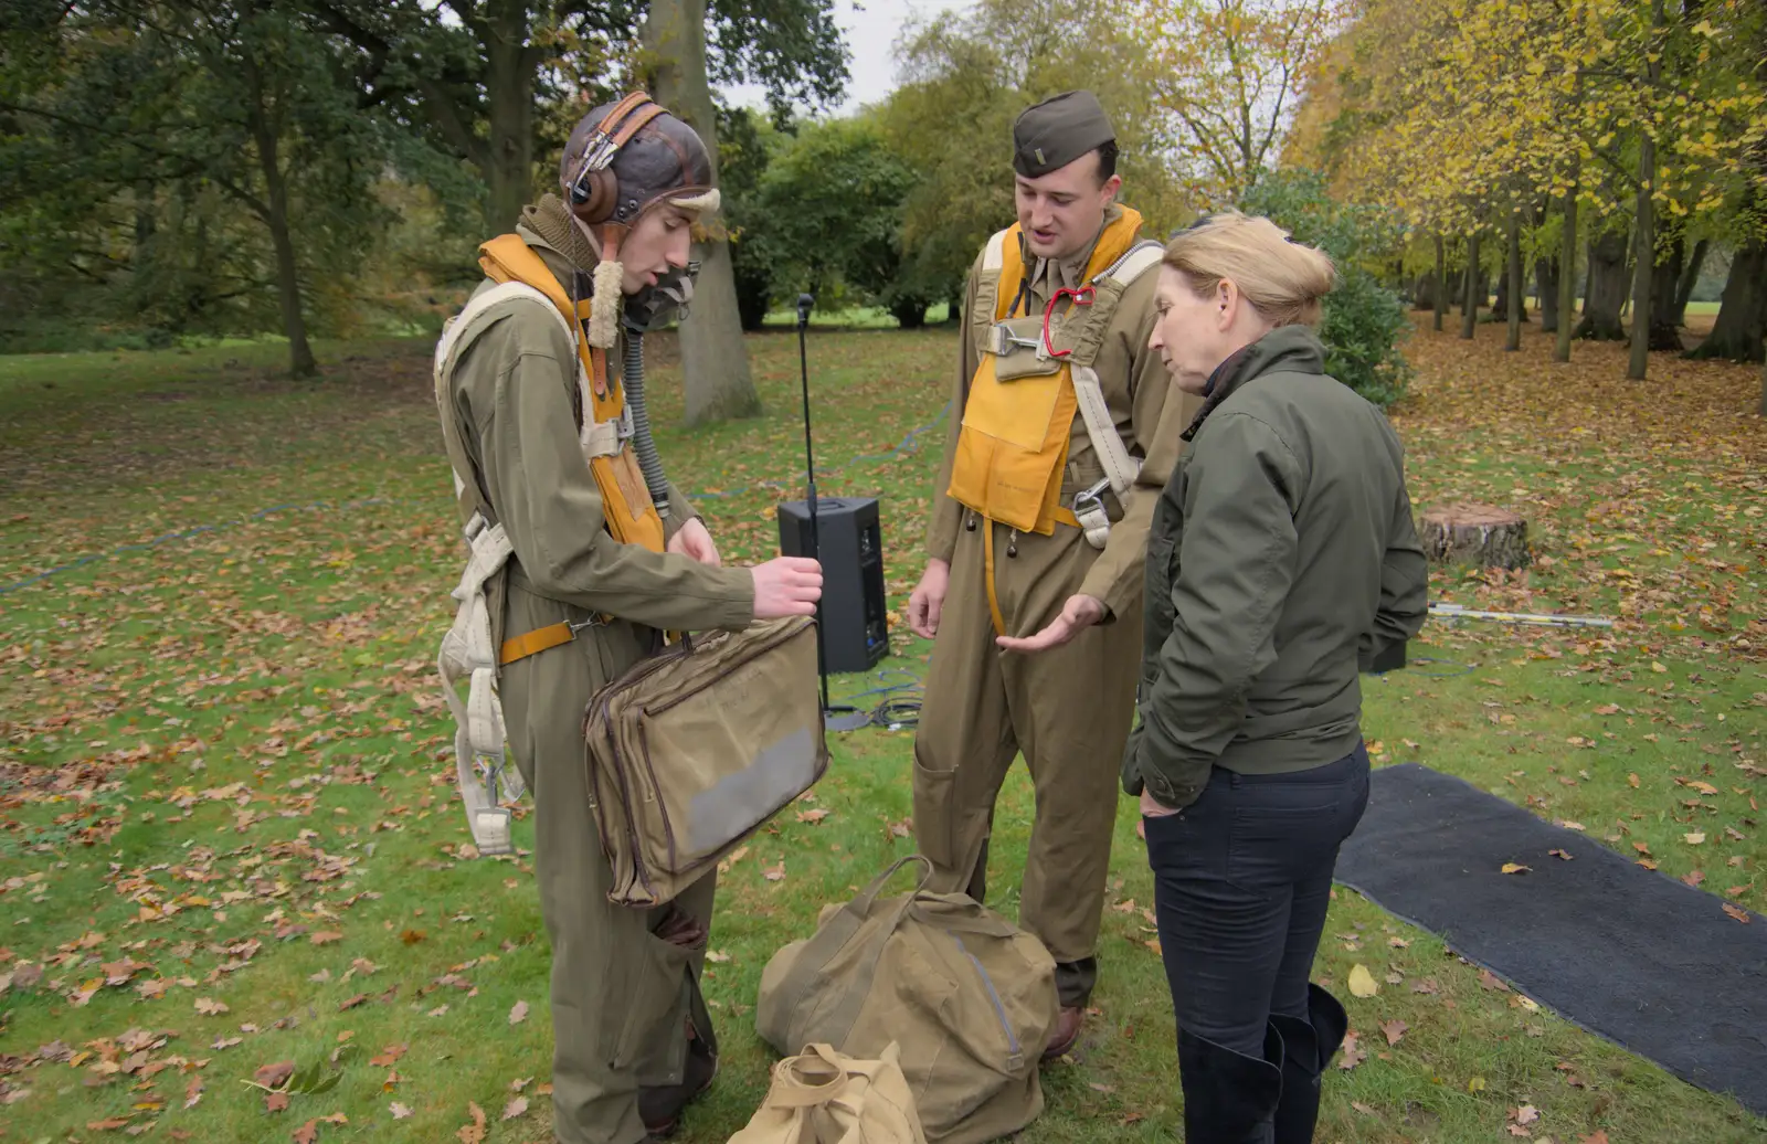
[{"label": "green grass lawn scattered with fallen brown leaves", "polygon": [[[912,434],[940,418],[952,337],[818,330],[809,351],[822,489],[882,498],[898,614],[944,425]],[[1502,341],[1417,334],[1394,420],[1421,505],[1514,507],[1541,560],[1438,570],[1433,598],[1620,623],[1431,623],[1419,662],[1366,687],[1376,761],[1419,759],[1580,823],[1590,847],[1647,851],[1719,918],[1763,911],[1760,371],[1663,355],[1629,383],[1624,346],[1580,344],[1562,367],[1537,332],[1521,353]],[[774,551],[800,457],[795,337],[749,348],[769,415],[661,438],[744,561]],[[277,344],[0,358],[5,1144],[470,1140],[477,1114],[488,1140],[551,1139],[532,867],[461,854],[433,683],[461,549],[428,344],[318,350],[327,376],[309,385],[276,374]],[[673,355],[652,357],[673,425]],[[919,674],[926,653],[898,623],[885,667]],[[841,678],[838,694],[878,685]],[[815,791],[830,814],[788,812],[732,862],[707,967],[724,1070],[684,1140],[724,1140],[756,1107],[760,971],[906,853],[891,826],[910,812],[908,763],[908,733],[839,738]],[[1030,823],[1021,771],[997,823],[1005,888]],[[1168,1140],[1180,1125],[1129,800],[1117,844],[1097,1012],[1076,1061],[1046,1072],[1027,1142]],[[1004,890],[993,904],[1016,909]],[[1576,957],[1599,973],[1601,950]],[[1378,996],[1350,997],[1357,964]],[[1732,1100],[1483,985],[1354,893],[1338,893],[1318,975],[1362,1054],[1327,1080],[1320,1140],[1767,1140]],[[284,1061],[325,1091],[254,1088]]]}]

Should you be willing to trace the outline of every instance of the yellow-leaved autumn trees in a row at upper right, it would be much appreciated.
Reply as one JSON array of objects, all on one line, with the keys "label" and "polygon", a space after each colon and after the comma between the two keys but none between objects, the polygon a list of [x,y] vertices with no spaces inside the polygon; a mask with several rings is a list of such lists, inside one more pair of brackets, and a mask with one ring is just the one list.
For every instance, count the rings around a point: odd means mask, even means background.
[{"label": "yellow-leaved autumn trees in a row at upper right", "polygon": [[[1403,208],[1421,238],[1442,238],[1438,270],[1465,251],[1468,337],[1481,235],[1502,235],[1516,346],[1520,251],[1551,219],[1560,360],[1573,334],[1624,335],[1629,297],[1634,378],[1650,348],[1679,348],[1673,323],[1705,249],[1732,244],[1732,286],[1702,351],[1758,358],[1763,23],[1742,0],[1364,0],[1323,51],[1285,159],[1325,168],[1341,194]],[[1585,242],[1592,270],[1573,327]]]}]

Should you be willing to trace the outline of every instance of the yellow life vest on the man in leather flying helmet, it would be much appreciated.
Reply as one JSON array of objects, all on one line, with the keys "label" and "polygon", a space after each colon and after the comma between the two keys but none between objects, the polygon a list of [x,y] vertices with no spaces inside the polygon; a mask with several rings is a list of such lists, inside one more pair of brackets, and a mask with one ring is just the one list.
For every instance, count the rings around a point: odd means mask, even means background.
[{"label": "yellow life vest on the man in leather flying helmet", "polygon": [[[581,330],[588,316],[588,298],[573,304],[558,279],[521,235],[498,235],[479,247],[479,267],[497,282],[523,282],[546,295],[573,330]],[[617,427],[626,413],[626,390],[618,378],[608,376],[608,351],[576,337],[580,378],[590,383],[583,390],[583,454],[588,470],[601,489],[601,510],[608,531],[622,544],[641,544],[652,553],[663,551],[663,517],[650,501],[650,487],[631,441],[622,440]]]}]

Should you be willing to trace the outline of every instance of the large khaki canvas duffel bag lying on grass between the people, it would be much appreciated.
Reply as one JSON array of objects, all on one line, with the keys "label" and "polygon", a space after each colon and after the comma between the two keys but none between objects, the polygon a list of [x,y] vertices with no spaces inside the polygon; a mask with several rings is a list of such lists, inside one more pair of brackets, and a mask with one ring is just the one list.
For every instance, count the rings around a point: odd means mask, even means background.
[{"label": "large khaki canvas duffel bag lying on grass between the people", "polygon": [[1055,1027],[1055,959],[965,893],[878,899],[903,858],[809,941],[767,962],[755,1024],[779,1052],[827,1043],[855,1057],[901,1045],[931,1144],[977,1144],[1043,1112],[1037,1063]]}]

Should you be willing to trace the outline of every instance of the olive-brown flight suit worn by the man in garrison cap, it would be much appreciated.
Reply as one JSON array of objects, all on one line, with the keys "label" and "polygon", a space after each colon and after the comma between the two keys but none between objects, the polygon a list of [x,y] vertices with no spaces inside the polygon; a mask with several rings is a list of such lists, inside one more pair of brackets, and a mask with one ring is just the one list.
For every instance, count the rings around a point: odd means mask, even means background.
[{"label": "olive-brown flight suit worn by the man in garrison cap", "polygon": [[[1111,207],[1106,221],[1117,217]],[[1092,247],[1066,265],[1027,263],[1028,311],[1041,314],[1060,286],[1078,286]],[[1200,399],[1186,399],[1159,355],[1147,348],[1154,330],[1159,274],[1141,274],[1111,314],[1094,369],[1131,455],[1143,457],[1126,503],[1106,494],[1113,519],[1104,549],[1078,528],[1055,535],[995,530],[995,590],[1007,636],[1034,636],[1055,620],[1067,597],[1099,598],[1108,620],[1048,651],[1016,653],[995,646],[988,609],[982,528],[988,524],[945,494],[970,378],[975,376],[974,314],[981,258],[970,270],[965,330],[958,353],[956,404],[945,459],[933,491],[928,554],[951,563],[951,590],[938,620],[926,701],[914,743],[915,840],[938,874],[935,888],[986,890],[988,837],[995,798],[1018,754],[1035,787],[1035,821],[1020,892],[1020,925],[1035,934],[1057,962],[1062,1005],[1085,1005],[1097,980],[1097,934],[1104,909],[1117,777],[1141,655],[1141,565],[1159,491],[1172,473]],[[1085,309],[1073,321],[1083,321]],[[1168,399],[1172,395],[1173,399]],[[1062,505],[1103,475],[1087,425],[1074,417]]]}]

